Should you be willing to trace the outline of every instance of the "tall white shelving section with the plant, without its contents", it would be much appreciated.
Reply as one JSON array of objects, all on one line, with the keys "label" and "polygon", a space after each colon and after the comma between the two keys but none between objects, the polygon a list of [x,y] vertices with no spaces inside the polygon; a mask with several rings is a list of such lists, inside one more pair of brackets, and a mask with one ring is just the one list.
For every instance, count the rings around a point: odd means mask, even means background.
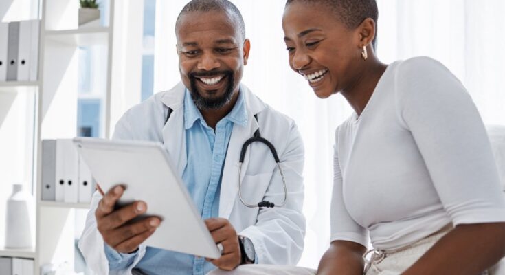
[{"label": "tall white shelving section with the plant, without its contents", "polygon": [[[102,65],[105,81],[104,129],[109,129],[109,100],[113,43],[114,0],[109,0],[109,23],[103,27],[77,28],[78,1],[45,0],[42,8],[41,30],[41,100],[38,102],[37,135],[37,230],[35,265],[39,274],[46,264],[66,261],[74,266],[76,212],[86,210],[89,203],[64,203],[41,200],[41,140],[73,138],[77,133],[79,48],[104,47],[106,58]],[[63,9],[63,10],[62,10]],[[74,16],[72,16],[74,15]],[[106,14],[103,14],[104,16]],[[104,131],[104,137],[109,136]],[[82,229],[82,228],[81,228]]]}]

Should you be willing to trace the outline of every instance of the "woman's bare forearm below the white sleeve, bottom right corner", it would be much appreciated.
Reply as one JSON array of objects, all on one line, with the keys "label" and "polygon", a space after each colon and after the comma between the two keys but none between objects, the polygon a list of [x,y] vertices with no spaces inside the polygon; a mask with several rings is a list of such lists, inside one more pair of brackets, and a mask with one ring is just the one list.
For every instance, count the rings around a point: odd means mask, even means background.
[{"label": "woman's bare forearm below the white sleeve, bottom right corner", "polygon": [[404,275],[475,275],[505,256],[505,223],[458,225]]}]

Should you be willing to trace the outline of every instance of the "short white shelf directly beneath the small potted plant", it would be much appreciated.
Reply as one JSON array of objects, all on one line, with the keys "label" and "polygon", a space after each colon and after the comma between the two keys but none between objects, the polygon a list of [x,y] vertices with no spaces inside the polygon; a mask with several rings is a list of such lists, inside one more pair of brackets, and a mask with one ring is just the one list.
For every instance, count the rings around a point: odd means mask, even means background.
[{"label": "short white shelf directly beneath the small potted plant", "polygon": [[76,30],[49,30],[45,38],[74,46],[107,45],[109,43],[109,27],[83,28]]}]

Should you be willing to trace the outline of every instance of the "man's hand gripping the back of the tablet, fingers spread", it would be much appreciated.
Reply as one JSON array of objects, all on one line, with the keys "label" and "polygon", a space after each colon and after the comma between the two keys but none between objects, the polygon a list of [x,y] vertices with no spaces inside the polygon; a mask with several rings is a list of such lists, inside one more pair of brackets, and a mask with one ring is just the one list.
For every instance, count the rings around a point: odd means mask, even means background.
[{"label": "man's hand gripping the back of the tablet, fingers spread", "polygon": [[120,253],[135,252],[139,245],[152,235],[161,222],[157,217],[148,217],[135,223],[131,219],[147,210],[144,201],[135,201],[114,210],[115,203],[123,195],[123,186],[114,186],[106,192],[95,212],[97,228],[104,242]]}]

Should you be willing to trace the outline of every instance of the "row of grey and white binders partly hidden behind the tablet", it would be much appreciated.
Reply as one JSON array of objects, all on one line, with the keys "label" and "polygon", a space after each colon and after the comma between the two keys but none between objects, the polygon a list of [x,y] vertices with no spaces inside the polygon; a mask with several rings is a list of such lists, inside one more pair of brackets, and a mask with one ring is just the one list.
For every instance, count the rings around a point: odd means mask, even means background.
[{"label": "row of grey and white binders partly hidden behind the tablet", "polygon": [[72,140],[42,141],[42,200],[89,203],[96,188]]}]

